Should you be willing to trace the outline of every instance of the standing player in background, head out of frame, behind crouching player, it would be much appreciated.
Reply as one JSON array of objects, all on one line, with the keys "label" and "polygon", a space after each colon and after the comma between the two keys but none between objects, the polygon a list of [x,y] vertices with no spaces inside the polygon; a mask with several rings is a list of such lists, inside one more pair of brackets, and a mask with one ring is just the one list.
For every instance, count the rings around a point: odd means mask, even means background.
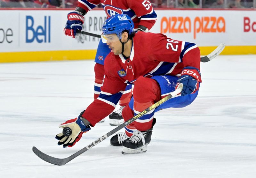
[{"label": "standing player in background, head out of frame, behind crouching player", "polygon": [[[81,30],[84,23],[84,15],[102,4],[107,18],[115,14],[126,14],[132,18],[135,31],[148,32],[156,22],[156,13],[149,0],[78,0],[78,6],[74,12],[68,13],[68,21],[64,29],[64,33],[75,38],[76,29]],[[98,98],[100,94],[100,86],[104,76],[104,61],[110,49],[106,44],[100,40],[97,53],[95,56],[95,83],[94,83],[94,99]],[[132,85],[127,85],[123,96],[120,99],[121,106],[116,112],[109,115],[110,125],[116,126],[124,122],[122,118],[122,110],[132,97]]]}]

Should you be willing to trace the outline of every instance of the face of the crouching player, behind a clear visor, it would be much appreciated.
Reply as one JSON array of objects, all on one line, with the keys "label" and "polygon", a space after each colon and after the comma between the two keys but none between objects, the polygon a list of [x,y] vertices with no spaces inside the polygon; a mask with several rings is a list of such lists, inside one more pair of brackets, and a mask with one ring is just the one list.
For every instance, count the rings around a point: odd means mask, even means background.
[{"label": "face of the crouching player, behind a clear visor", "polygon": [[108,48],[111,49],[111,52],[114,55],[119,55],[122,52],[122,43],[120,43],[119,38],[116,34],[108,34],[105,36],[107,39]]}]

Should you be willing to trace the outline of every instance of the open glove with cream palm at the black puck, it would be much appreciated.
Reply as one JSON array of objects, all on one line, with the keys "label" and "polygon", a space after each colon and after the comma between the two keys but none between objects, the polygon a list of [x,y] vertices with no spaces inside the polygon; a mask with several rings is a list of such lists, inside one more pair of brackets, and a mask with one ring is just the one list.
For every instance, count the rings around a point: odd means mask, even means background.
[{"label": "open glove with cream palm at the black puck", "polygon": [[80,115],[78,118],[70,119],[60,124],[59,127],[63,128],[63,131],[57,134],[55,138],[60,140],[58,145],[63,145],[63,148],[74,146],[83,133],[91,130],[90,126],[86,126],[81,120]]}]

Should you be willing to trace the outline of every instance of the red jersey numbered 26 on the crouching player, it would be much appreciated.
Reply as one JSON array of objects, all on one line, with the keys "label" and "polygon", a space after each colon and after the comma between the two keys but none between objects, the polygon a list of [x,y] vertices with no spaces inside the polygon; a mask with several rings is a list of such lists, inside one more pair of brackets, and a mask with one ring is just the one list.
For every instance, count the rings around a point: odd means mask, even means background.
[{"label": "red jersey numbered 26 on the crouching player", "polygon": [[94,126],[115,109],[127,83],[134,84],[140,76],[180,76],[188,66],[200,70],[200,51],[194,43],[172,40],[161,33],[138,32],[128,59],[122,54],[108,54],[100,96],[82,116]]}]

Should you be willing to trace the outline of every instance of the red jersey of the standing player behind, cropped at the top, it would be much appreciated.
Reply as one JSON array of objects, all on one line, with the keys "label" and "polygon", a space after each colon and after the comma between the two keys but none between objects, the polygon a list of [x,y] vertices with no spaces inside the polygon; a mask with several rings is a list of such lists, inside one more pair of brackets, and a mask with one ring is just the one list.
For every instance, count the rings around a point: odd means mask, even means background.
[{"label": "red jersey of the standing player behind, cropped at the top", "polygon": [[126,14],[134,22],[135,31],[139,25],[150,30],[157,19],[156,12],[149,0],[78,0],[78,3],[78,7],[82,7],[86,12],[101,3],[107,18],[116,14]]}]

